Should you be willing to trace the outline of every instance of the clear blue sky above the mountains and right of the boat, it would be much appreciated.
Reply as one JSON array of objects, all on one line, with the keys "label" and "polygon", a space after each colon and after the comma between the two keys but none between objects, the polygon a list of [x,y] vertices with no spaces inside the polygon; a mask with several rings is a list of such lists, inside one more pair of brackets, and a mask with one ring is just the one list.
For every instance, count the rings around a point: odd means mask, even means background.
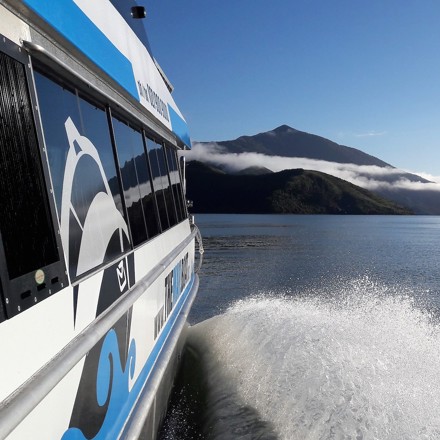
[{"label": "clear blue sky above the mountains and right of the boat", "polygon": [[440,176],[439,0],[146,6],[193,141],[287,124]]}]

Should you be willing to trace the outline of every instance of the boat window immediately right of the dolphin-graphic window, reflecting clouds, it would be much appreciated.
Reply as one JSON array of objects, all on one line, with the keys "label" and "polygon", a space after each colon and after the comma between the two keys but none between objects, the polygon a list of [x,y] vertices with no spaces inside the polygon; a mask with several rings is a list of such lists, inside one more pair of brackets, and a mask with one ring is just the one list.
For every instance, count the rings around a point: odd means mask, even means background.
[{"label": "boat window immediately right of the dolphin-graphic window, reflecting clouds", "polygon": [[142,134],[119,119],[112,118],[119,166],[124,187],[125,205],[133,245],[159,233],[150,171]]}]

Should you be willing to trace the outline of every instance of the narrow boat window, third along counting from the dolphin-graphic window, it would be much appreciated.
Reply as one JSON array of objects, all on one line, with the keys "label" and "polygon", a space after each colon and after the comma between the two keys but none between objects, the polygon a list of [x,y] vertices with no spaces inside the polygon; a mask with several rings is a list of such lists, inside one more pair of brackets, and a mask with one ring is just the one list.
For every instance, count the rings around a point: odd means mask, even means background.
[{"label": "narrow boat window, third along counting from the dolphin-graphic window", "polygon": [[177,223],[177,214],[171,192],[163,146],[152,139],[147,139],[148,156],[153,173],[153,186],[162,227],[168,229]]}]

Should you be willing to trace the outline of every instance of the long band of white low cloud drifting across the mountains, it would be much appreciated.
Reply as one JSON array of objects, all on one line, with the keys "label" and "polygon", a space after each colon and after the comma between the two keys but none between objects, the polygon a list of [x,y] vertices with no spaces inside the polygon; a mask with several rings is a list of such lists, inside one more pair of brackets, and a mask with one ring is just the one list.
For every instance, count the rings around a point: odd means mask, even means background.
[{"label": "long band of white low cloud drifting across the mountains", "polygon": [[[228,171],[236,172],[248,167],[265,167],[277,172],[286,169],[303,168],[306,170],[321,171],[369,190],[434,190],[440,191],[440,177],[426,173],[416,173],[430,182],[414,181],[417,178],[405,176],[408,171],[392,167],[375,165],[355,165],[346,163],[328,162],[302,157],[267,156],[260,153],[227,153],[216,143],[195,143],[192,150],[185,152],[188,161],[200,162],[221,166]],[[415,173],[412,173],[413,175]]]}]

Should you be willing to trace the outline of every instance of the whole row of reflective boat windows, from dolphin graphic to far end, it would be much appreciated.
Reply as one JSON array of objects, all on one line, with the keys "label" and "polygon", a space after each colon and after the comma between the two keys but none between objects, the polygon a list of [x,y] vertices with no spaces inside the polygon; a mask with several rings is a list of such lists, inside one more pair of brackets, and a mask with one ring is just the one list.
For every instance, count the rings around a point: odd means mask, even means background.
[{"label": "whole row of reflective boat windows, from dolphin graphic to far end", "polygon": [[[35,72],[35,84],[72,278],[186,218],[174,150],[151,139],[145,142],[142,130],[131,122],[110,118],[112,109],[92,104],[80,91],[45,74]],[[93,237],[93,248],[87,236]]]}]

